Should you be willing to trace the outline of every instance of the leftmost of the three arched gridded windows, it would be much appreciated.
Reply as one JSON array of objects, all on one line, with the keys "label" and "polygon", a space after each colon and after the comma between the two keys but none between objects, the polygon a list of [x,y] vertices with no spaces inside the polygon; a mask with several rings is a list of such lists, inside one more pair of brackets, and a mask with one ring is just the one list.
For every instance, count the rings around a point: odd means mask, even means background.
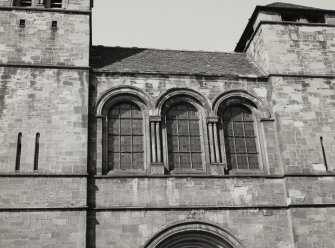
[{"label": "leftmost of the three arched gridded windows", "polygon": [[108,112],[108,170],[143,170],[143,114],[133,103]]}]

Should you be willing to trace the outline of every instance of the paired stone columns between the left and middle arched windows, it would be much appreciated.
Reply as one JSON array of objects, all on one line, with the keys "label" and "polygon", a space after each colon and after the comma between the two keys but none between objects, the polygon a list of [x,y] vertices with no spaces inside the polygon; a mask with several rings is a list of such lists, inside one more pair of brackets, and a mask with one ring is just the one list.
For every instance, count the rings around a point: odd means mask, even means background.
[{"label": "paired stone columns between the left and middle arched windows", "polygon": [[150,116],[151,174],[164,174],[161,116]]}]

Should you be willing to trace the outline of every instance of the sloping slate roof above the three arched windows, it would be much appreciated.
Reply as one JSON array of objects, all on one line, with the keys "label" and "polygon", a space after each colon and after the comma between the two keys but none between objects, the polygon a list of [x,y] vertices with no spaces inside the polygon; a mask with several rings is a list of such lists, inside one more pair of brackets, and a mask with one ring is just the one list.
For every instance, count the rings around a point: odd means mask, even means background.
[{"label": "sloping slate roof above the three arched windows", "polygon": [[95,71],[224,76],[264,76],[243,53],[94,46]]}]

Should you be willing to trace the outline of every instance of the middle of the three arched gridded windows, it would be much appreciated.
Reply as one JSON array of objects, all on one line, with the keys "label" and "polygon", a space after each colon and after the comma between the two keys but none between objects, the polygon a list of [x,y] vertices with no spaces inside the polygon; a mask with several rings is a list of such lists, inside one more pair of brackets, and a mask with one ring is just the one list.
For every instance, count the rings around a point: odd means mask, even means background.
[{"label": "middle of the three arched gridded windows", "polygon": [[166,113],[170,170],[202,170],[200,119],[197,109],[177,103]]}]

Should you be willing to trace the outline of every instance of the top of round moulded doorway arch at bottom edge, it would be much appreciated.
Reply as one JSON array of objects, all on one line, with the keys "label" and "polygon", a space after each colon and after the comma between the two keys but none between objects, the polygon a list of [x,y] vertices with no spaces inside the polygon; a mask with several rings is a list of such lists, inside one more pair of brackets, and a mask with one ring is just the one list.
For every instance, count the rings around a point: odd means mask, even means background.
[{"label": "top of round moulded doorway arch at bottom edge", "polygon": [[245,248],[219,226],[200,221],[171,225],[155,234],[143,248]]}]

